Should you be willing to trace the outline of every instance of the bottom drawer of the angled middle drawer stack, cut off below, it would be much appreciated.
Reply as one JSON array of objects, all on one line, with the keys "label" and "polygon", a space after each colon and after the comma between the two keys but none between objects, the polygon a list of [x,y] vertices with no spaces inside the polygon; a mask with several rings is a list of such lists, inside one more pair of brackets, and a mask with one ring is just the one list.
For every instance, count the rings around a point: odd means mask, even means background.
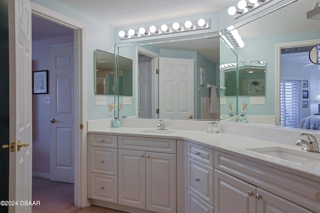
[{"label": "bottom drawer of the angled middle drawer stack, cut off below", "polygon": [[186,213],[213,213],[213,207],[199,199],[189,190],[186,191]]}]

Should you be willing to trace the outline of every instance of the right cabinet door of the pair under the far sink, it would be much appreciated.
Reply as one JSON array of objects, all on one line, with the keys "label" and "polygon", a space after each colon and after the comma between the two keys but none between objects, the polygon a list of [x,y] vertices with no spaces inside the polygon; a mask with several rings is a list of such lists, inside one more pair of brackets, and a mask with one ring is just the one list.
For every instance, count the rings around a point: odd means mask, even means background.
[{"label": "right cabinet door of the pair under the far sink", "polygon": [[146,210],[176,212],[176,155],[146,152]]}]

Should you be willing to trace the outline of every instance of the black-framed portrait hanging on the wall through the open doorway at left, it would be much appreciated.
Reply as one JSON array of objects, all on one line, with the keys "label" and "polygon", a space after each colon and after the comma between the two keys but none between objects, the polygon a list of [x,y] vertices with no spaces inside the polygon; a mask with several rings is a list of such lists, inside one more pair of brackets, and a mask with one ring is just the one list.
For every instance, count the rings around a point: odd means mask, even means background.
[{"label": "black-framed portrait hanging on the wall through the open doorway at left", "polygon": [[32,72],[32,88],[33,94],[48,93],[48,70]]}]

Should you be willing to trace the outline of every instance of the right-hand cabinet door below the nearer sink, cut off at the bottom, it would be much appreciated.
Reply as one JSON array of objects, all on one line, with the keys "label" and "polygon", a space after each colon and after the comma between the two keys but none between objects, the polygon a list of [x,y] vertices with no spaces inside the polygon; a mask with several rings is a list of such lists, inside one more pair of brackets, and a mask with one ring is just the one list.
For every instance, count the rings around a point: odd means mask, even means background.
[{"label": "right-hand cabinet door below the nearer sink, cut off at the bottom", "polygon": [[257,188],[258,213],[312,213],[292,202],[284,200],[274,194]]}]

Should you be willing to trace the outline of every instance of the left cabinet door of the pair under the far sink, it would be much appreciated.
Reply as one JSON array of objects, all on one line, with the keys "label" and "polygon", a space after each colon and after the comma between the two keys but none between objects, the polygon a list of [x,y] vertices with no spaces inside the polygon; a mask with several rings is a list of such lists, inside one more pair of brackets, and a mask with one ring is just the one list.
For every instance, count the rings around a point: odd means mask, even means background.
[{"label": "left cabinet door of the pair under the far sink", "polygon": [[145,152],[118,150],[118,204],[145,209]]}]

